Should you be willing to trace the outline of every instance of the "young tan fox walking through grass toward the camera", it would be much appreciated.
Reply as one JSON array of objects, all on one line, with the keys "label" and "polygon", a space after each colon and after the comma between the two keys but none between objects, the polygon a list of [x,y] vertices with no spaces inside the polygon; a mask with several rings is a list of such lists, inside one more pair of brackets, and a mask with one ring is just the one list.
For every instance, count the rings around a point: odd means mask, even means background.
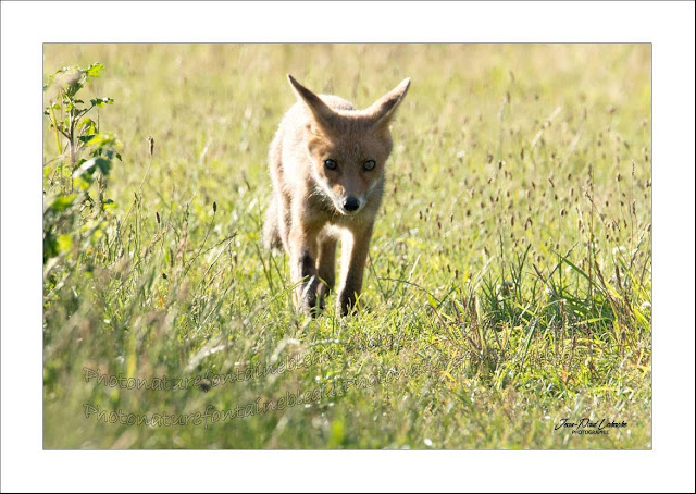
[{"label": "young tan fox walking through grass toward the camera", "polygon": [[263,243],[289,258],[294,305],[316,316],[334,289],[341,243],[337,306],[353,313],[374,222],[382,205],[389,129],[411,79],[364,110],[316,95],[287,75],[297,102],[285,113],[269,151],[273,195]]}]

